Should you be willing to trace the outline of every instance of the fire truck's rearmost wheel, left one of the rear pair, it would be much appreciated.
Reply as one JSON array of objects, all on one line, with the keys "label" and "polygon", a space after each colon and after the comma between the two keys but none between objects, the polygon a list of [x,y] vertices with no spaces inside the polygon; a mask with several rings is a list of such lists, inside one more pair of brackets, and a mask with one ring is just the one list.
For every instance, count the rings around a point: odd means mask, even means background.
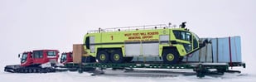
[{"label": "fire truck's rearmost wheel, left one of the rear pair", "polygon": [[109,53],[106,51],[99,51],[99,53],[97,53],[97,60],[99,60],[99,63],[108,63]]}]

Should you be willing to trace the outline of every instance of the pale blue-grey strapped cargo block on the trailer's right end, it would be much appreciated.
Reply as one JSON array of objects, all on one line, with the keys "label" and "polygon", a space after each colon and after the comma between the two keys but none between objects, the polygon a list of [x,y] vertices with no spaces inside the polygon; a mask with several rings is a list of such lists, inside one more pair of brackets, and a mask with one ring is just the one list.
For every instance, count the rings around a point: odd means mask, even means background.
[{"label": "pale blue-grey strapped cargo block on the trailer's right end", "polygon": [[210,44],[185,56],[182,61],[229,63],[231,58],[231,62],[242,62],[240,36],[230,37],[231,55],[229,54],[229,37],[207,39],[211,41]]}]

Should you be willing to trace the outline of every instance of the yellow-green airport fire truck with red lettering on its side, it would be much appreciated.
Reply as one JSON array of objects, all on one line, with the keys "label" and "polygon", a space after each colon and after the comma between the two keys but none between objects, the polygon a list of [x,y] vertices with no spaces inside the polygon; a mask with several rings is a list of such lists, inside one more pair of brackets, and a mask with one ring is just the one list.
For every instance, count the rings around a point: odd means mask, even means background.
[{"label": "yellow-green airport fire truck with red lettering on its side", "polygon": [[119,27],[89,31],[85,51],[99,63],[130,62],[135,56],[157,56],[164,63],[176,64],[183,56],[197,51],[199,37],[187,30],[159,26]]}]

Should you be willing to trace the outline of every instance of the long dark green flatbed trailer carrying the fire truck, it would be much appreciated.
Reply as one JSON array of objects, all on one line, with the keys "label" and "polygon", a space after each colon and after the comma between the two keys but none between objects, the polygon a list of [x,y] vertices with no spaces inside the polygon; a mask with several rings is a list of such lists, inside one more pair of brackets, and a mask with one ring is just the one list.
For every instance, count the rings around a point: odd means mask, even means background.
[{"label": "long dark green flatbed trailer carrying the fire truck", "polygon": [[[91,71],[92,68],[104,70],[107,68],[112,69],[133,69],[133,68],[150,68],[150,69],[186,69],[193,70],[196,72],[196,76],[199,78],[205,77],[205,75],[224,75],[225,72],[238,72],[239,70],[229,70],[229,67],[239,67],[245,68],[245,63],[180,63],[176,65],[164,64],[164,63],[142,63],[142,62],[132,62],[123,64],[101,64],[101,63],[67,63],[66,68],[72,70],[76,69],[80,73],[83,71]],[[215,71],[210,71],[215,69]]]}]

